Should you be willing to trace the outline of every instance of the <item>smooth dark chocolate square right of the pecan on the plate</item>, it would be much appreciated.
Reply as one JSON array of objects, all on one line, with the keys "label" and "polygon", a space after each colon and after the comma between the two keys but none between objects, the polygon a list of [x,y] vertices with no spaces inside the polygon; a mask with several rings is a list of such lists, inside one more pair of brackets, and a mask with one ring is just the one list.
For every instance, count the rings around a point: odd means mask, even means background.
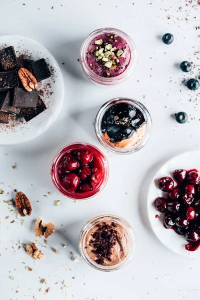
[{"label": "smooth dark chocolate square right of the pecan on the plate", "polygon": [[44,58],[31,62],[30,66],[37,81],[50,77],[50,70]]}]

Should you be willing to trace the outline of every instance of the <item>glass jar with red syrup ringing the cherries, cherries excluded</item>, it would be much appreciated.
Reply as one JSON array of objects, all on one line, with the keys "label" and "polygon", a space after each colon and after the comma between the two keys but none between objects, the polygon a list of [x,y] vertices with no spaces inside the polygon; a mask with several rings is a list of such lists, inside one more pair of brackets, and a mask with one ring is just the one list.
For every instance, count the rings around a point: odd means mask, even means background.
[{"label": "glass jar with red syrup ringing the cherries, cherries excluded", "polygon": [[[92,190],[84,192],[69,192],[61,185],[60,178],[58,175],[58,165],[60,163],[61,157],[63,157],[66,153],[75,151],[77,149],[86,149],[93,153],[95,162],[98,165],[98,168],[101,170],[101,178]],[[76,142],[64,146],[56,153],[51,164],[50,174],[53,184],[64,196],[72,198],[74,200],[84,200],[97,195],[103,189],[103,187],[107,183],[107,179],[109,176],[109,165],[107,158],[98,148],[88,143]]]}]

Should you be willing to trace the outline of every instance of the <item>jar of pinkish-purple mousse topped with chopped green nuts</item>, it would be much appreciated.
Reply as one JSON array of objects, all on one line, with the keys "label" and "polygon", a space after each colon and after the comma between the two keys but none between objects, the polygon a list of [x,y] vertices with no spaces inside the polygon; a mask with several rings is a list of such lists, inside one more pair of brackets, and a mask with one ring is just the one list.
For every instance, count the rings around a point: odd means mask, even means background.
[{"label": "jar of pinkish-purple mousse topped with chopped green nuts", "polygon": [[125,80],[136,62],[136,48],[132,39],[115,28],[101,28],[91,32],[80,49],[80,64],[91,80],[113,85]]}]

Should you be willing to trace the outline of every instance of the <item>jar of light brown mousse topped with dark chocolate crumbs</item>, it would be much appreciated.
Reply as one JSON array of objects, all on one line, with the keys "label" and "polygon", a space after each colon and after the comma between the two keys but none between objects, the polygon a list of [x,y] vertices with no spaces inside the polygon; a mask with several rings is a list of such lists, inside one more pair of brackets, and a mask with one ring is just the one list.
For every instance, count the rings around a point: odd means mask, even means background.
[{"label": "jar of light brown mousse topped with dark chocolate crumbs", "polygon": [[79,235],[79,250],[84,260],[101,271],[113,271],[132,258],[136,239],[123,218],[103,214],[88,220]]}]

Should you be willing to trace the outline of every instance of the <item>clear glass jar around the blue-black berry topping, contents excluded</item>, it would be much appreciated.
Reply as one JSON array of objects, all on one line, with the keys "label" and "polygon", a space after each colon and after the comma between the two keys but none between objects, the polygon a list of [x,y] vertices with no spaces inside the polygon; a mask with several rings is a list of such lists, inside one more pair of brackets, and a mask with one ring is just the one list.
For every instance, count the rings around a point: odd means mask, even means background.
[{"label": "clear glass jar around the blue-black berry topping, contents excluded", "polygon": [[[111,142],[109,142],[103,135],[102,132],[102,128],[101,128],[101,121],[102,118],[104,116],[104,113],[107,111],[107,109],[109,109],[110,107],[112,107],[115,104],[119,104],[119,103],[127,103],[130,104],[131,106],[135,107],[136,109],[138,109],[141,114],[143,115],[144,121],[145,121],[145,132],[142,133],[142,138],[137,141],[136,143],[132,144],[132,145],[128,145],[128,147],[118,147],[115,146],[114,144],[112,144]],[[140,102],[132,99],[132,98],[126,98],[126,97],[118,97],[118,98],[113,98],[109,101],[107,101],[106,103],[104,103],[95,118],[95,123],[94,123],[94,128],[95,128],[95,133],[96,136],[98,138],[98,140],[100,141],[100,143],[108,150],[113,151],[115,153],[118,154],[127,154],[127,153],[132,153],[135,152],[139,149],[141,149],[147,142],[149,136],[150,136],[150,132],[151,132],[151,127],[152,127],[152,119],[151,116],[148,112],[148,110],[146,109],[146,107],[141,104]]]}]

